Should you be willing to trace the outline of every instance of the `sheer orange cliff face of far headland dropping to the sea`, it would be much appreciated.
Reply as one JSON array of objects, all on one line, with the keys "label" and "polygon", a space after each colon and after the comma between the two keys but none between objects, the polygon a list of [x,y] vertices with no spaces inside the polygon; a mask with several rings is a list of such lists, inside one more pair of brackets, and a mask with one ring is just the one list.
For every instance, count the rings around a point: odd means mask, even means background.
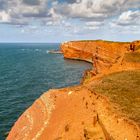
[{"label": "sheer orange cliff face of far headland dropping to the sea", "polygon": [[119,62],[129,47],[130,43],[98,40],[63,43],[61,50],[65,58],[92,62],[97,72],[101,73]]}]

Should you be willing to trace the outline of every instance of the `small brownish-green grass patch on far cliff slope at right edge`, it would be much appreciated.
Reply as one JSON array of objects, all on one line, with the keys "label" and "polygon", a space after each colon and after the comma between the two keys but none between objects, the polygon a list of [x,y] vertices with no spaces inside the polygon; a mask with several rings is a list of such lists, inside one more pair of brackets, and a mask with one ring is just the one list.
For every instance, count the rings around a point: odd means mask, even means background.
[{"label": "small brownish-green grass patch on far cliff slope at right edge", "polygon": [[132,52],[125,54],[124,60],[127,62],[140,62],[140,52]]}]

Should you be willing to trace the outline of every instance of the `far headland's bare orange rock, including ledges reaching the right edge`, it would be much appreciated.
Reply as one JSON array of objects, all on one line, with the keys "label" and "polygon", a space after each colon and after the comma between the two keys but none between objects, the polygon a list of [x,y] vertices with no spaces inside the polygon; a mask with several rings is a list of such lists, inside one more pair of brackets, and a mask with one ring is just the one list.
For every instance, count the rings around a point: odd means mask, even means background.
[{"label": "far headland's bare orange rock, including ledges reaching the right edge", "polygon": [[[134,50],[131,50],[131,45]],[[124,62],[124,55],[126,53],[138,51],[140,50],[139,48],[140,41],[71,41],[61,45],[64,58],[84,60],[93,63],[95,74],[114,71],[114,69],[118,67],[121,70],[127,69],[127,67],[139,67],[139,64],[128,64]]]}]

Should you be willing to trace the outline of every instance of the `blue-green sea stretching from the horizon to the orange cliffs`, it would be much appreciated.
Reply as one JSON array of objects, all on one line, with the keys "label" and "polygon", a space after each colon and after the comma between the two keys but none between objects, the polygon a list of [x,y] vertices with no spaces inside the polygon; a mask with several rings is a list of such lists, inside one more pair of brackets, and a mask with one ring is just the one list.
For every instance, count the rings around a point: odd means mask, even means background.
[{"label": "blue-green sea stretching from the horizon to the orange cliffs", "polygon": [[0,140],[44,91],[76,85],[91,64],[48,54],[59,44],[0,44]]}]

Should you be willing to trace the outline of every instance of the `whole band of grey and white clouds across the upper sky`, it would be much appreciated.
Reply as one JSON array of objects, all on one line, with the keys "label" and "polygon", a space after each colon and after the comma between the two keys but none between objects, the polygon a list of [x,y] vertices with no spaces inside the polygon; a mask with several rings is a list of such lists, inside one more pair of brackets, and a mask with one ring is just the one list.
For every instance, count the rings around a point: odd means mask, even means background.
[{"label": "whole band of grey and white clouds across the upper sky", "polygon": [[[111,27],[138,26],[139,0],[0,0],[0,23],[74,28],[72,19],[84,29],[95,30],[111,23]],[[77,24],[78,26],[78,24]],[[81,26],[80,26],[81,27]],[[79,29],[78,29],[79,31]],[[77,32],[77,31],[76,31]],[[75,32],[75,33],[76,33]]]}]

